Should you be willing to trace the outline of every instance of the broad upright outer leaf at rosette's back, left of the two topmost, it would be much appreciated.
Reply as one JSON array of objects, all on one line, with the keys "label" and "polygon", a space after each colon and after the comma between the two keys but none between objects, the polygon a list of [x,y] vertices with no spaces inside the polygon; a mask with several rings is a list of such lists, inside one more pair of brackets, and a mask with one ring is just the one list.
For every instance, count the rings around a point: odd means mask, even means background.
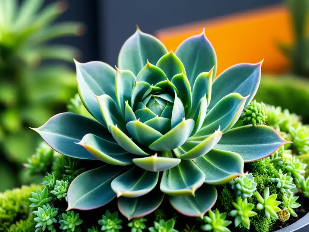
[{"label": "broad upright outer leaf at rosette's back, left of the two topmost", "polygon": [[147,60],[155,64],[166,53],[167,49],[161,41],[137,28],[121,47],[118,68],[131,70],[134,75],[138,75]]}]

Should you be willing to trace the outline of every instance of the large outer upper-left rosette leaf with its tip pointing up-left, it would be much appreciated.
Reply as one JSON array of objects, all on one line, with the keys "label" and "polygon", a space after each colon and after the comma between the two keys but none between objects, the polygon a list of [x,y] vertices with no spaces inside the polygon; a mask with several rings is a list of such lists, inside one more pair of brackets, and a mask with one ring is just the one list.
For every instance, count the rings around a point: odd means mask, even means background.
[{"label": "large outer upper-left rosette leaf with its tip pointing up-left", "polygon": [[105,125],[95,95],[107,94],[116,102],[116,70],[100,61],[87,63],[75,61],[75,65],[79,96],[92,116]]}]

